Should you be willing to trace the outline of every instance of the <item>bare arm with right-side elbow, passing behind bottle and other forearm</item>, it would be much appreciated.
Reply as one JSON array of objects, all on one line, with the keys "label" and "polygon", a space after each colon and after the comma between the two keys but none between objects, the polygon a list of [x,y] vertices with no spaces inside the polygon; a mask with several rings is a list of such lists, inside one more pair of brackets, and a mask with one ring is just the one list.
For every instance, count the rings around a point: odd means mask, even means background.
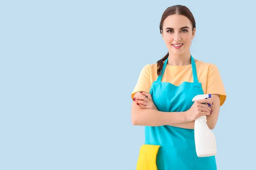
[{"label": "bare arm with right-side elbow, passing behind bottle and other forearm", "polygon": [[[212,102],[213,105],[211,107],[212,114],[207,116],[207,125],[209,129],[214,129],[217,120],[218,114],[220,111],[220,95],[219,94],[212,94]],[[178,124],[169,124],[170,126],[181,127],[185,129],[194,129],[195,128],[195,121],[192,122],[185,122],[185,123],[178,123]]]}]

